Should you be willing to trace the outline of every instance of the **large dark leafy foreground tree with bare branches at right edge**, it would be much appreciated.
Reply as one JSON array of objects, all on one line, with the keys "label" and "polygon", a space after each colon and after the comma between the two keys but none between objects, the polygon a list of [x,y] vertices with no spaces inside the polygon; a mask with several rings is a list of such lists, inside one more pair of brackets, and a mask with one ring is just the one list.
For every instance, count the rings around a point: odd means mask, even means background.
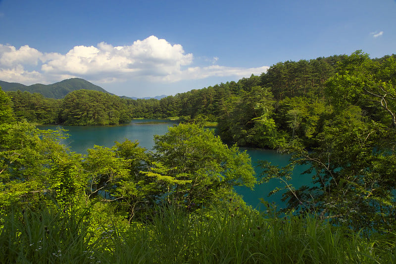
[{"label": "large dark leafy foreground tree with bare branches at right edge", "polygon": [[[387,62],[379,65],[360,51],[345,57],[327,82],[334,111],[318,131],[316,147],[290,146],[292,162],[283,170],[263,162],[267,179],[286,183],[289,210],[317,211],[355,230],[395,230],[395,84]],[[288,183],[297,164],[309,166],[312,186]]]}]

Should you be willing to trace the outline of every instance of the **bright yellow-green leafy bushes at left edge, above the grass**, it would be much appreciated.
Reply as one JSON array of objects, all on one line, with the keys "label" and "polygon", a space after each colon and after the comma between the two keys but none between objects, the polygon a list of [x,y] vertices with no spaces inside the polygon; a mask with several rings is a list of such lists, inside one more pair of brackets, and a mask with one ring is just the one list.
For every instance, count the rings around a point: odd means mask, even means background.
[{"label": "bright yellow-green leafy bushes at left edge, above the grass", "polygon": [[11,124],[1,135],[1,206],[33,202],[42,195],[70,202],[68,198],[80,194],[80,156],[68,154],[59,137],[59,132],[26,122]]}]

